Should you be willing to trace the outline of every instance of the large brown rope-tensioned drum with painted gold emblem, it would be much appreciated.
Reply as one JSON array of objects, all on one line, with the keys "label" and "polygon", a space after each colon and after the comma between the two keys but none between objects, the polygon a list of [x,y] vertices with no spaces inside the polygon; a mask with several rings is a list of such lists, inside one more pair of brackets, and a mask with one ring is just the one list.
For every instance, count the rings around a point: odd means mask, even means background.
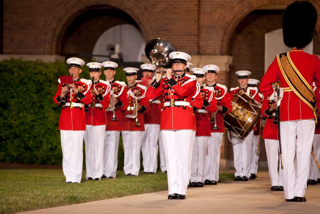
[{"label": "large brown rope-tensioned drum with painted gold emblem", "polygon": [[261,104],[240,91],[231,100],[232,111],[224,117],[224,125],[239,138],[245,138],[258,122]]}]

